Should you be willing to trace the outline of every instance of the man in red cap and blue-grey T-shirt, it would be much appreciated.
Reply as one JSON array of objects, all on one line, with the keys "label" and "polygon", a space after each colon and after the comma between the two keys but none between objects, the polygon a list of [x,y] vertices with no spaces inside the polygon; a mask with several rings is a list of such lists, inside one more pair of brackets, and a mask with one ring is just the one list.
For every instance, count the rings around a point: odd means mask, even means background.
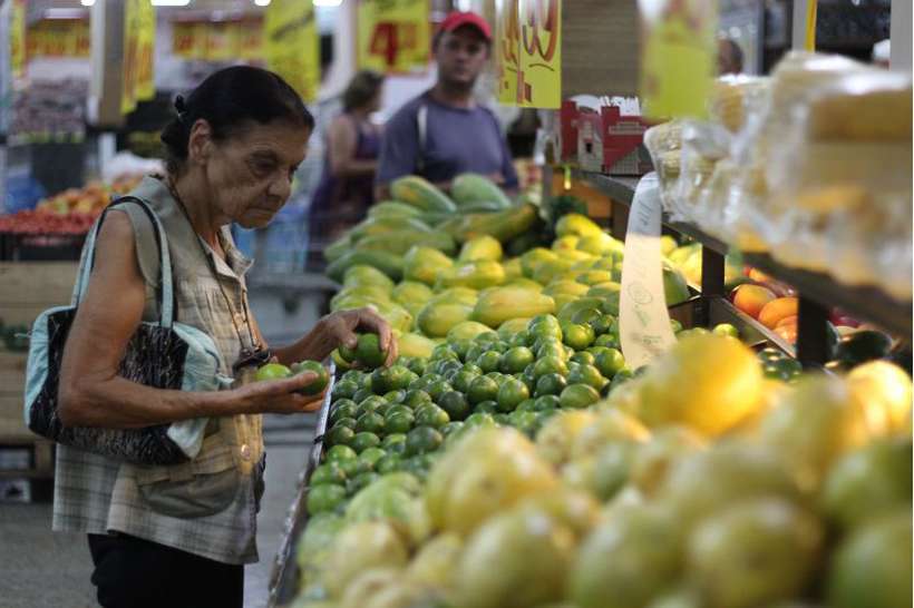
[{"label": "man in red cap and blue-grey T-shirt", "polygon": [[492,28],[474,12],[451,12],[432,40],[438,80],[388,121],[376,178],[378,200],[389,184],[421,175],[445,189],[461,173],[489,176],[507,189],[517,174],[495,115],[473,96],[492,56]]}]

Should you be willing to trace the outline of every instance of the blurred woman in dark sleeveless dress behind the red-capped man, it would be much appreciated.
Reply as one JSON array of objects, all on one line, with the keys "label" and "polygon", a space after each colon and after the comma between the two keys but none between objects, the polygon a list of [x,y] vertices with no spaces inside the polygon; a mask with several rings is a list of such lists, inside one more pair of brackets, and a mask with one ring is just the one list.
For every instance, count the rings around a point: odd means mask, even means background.
[{"label": "blurred woman in dark sleeveless dress behind the red-capped man", "polygon": [[371,115],[381,107],[382,75],[358,72],[342,96],[343,110],[328,128],[323,175],[309,209],[311,241],[332,241],[358,223],[375,202],[381,129]]}]

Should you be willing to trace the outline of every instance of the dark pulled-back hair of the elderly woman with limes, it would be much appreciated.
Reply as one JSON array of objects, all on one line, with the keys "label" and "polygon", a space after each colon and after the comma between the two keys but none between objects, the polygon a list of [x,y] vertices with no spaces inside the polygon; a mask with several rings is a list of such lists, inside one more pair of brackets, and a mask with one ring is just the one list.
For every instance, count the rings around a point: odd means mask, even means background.
[{"label": "dark pulled-back hair of the elderly woman with limes", "polygon": [[177,174],[187,159],[191,128],[198,119],[210,124],[213,139],[223,140],[250,126],[284,120],[313,130],[314,117],[299,94],[275,73],[234,66],[210,75],[185,99],[175,99],[177,117],[162,131],[166,168]]}]

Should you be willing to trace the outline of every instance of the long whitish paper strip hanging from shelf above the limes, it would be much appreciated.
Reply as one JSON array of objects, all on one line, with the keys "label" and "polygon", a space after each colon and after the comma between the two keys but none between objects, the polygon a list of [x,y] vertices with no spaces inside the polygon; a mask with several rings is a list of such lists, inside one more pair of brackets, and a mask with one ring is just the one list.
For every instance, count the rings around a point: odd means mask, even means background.
[{"label": "long whitish paper strip hanging from shelf above the limes", "polygon": [[657,174],[651,173],[638,183],[629,210],[619,294],[619,340],[632,370],[675,343],[663,292],[660,218],[660,189]]}]

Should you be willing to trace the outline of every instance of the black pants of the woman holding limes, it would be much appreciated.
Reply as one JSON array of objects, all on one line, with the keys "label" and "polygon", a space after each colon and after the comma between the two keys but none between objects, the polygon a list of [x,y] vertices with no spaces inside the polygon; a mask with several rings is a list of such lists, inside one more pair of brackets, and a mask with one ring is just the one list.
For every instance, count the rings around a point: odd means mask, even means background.
[{"label": "black pants of the woman holding limes", "polygon": [[244,566],[127,535],[89,535],[104,608],[242,608]]}]

